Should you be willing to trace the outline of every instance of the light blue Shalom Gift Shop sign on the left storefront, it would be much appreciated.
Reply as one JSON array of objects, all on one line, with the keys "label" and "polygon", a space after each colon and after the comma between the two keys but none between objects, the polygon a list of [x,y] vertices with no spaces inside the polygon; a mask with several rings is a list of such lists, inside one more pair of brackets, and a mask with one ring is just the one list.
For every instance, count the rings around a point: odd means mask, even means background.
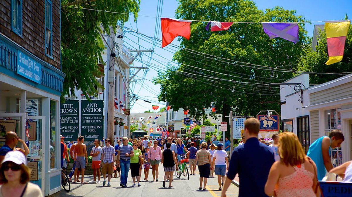
[{"label": "light blue Shalom Gift Shop sign on the left storefront", "polygon": [[17,74],[40,84],[42,65],[18,50]]}]

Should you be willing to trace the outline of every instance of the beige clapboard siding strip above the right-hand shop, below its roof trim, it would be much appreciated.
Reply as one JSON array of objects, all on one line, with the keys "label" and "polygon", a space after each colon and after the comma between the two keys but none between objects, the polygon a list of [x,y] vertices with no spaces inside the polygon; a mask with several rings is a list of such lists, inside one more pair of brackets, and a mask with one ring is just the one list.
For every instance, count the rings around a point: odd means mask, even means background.
[{"label": "beige clapboard siding strip above the right-hand shop, below its roof trim", "polygon": [[310,105],[344,99],[352,96],[352,82],[309,95]]}]

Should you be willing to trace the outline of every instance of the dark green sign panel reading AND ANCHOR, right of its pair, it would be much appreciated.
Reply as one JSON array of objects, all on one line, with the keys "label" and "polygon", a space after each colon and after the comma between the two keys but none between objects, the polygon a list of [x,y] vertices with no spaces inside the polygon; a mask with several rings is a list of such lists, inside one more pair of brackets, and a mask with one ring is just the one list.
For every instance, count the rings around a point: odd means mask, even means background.
[{"label": "dark green sign panel reading AND ANCHOR, right of its pair", "polygon": [[81,135],[86,141],[103,138],[103,100],[81,101]]}]

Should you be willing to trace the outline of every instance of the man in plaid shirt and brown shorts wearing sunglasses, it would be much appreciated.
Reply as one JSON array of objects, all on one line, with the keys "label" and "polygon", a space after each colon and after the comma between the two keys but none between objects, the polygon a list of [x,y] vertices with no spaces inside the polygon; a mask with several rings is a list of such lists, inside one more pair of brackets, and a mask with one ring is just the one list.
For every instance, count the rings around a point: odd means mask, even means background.
[{"label": "man in plaid shirt and brown shorts wearing sunglasses", "polygon": [[104,140],[105,143],[105,147],[102,148],[101,150],[101,171],[103,174],[103,186],[106,183],[106,173],[108,174],[108,187],[111,186],[110,185],[110,179],[112,176],[112,168],[114,167],[114,157],[115,157],[115,148],[110,144],[110,139],[106,138]]}]

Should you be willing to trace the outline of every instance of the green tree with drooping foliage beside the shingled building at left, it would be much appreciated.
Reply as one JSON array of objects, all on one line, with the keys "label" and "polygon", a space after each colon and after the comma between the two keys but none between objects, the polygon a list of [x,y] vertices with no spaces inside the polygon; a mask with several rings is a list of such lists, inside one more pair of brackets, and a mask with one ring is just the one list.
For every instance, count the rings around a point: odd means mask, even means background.
[{"label": "green tree with drooping foliage beside the shingled building at left", "polygon": [[103,75],[103,69],[98,63],[103,62],[101,54],[106,43],[102,41],[100,32],[109,34],[110,26],[116,32],[117,23],[123,24],[129,18],[126,14],[82,8],[133,13],[136,20],[139,2],[140,0],[87,0],[84,3],[61,1],[62,72],[66,74],[62,97],[66,94],[75,96],[75,88],[82,90],[85,95],[96,95],[96,87],[103,88],[95,79]]}]

